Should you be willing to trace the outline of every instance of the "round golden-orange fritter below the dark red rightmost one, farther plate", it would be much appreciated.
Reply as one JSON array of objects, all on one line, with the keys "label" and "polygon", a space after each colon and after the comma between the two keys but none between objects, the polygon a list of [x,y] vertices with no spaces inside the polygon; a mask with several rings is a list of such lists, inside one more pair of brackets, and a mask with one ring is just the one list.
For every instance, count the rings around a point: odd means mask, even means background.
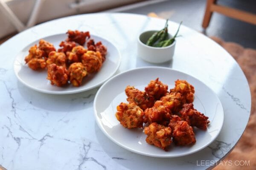
[{"label": "round golden-orange fritter below the dark red rightmost one, farther plate", "polygon": [[102,67],[102,56],[98,51],[87,51],[81,57],[81,61],[88,73],[98,72]]}]

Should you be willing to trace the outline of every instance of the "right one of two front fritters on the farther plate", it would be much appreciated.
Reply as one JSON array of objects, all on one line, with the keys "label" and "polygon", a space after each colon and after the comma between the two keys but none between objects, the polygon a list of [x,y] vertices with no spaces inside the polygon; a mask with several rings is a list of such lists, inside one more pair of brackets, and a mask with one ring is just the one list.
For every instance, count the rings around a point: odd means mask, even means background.
[{"label": "right one of two front fritters on the farther plate", "polygon": [[70,82],[76,87],[82,84],[83,78],[87,75],[86,68],[81,62],[71,64],[68,73],[70,75]]}]

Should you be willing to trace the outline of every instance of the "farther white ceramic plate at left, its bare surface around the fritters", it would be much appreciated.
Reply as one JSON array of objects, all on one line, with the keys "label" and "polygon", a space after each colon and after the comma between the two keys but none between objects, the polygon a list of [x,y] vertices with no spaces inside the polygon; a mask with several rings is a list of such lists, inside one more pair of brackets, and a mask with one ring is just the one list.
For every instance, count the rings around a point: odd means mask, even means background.
[{"label": "farther white ceramic plate at left, its bare surface around the fritters", "polygon": [[[24,59],[29,53],[29,48],[32,45],[38,44],[39,40],[27,45],[17,55],[14,62],[14,71],[17,78],[27,87],[48,94],[74,94],[102,85],[116,73],[121,62],[121,56],[119,50],[108,40],[96,35],[91,35],[91,38],[93,38],[95,42],[102,41],[102,44],[108,48],[108,53],[105,62],[102,64],[101,70],[93,76],[84,78],[81,86],[74,87],[73,85],[67,85],[65,87],[57,87],[51,85],[50,81],[46,79],[47,70],[33,71],[25,64]],[[67,39],[67,34],[56,34],[49,37],[42,37],[41,39],[51,42],[57,49],[60,48],[58,46],[59,43]]]}]

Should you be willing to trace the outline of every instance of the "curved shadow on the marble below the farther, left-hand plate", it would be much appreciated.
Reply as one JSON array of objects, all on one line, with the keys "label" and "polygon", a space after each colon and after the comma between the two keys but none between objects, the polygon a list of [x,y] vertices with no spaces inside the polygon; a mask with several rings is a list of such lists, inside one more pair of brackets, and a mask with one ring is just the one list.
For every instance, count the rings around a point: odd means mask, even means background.
[{"label": "curved shadow on the marble below the farther, left-hand plate", "polygon": [[17,88],[23,99],[28,102],[28,105],[57,112],[79,111],[91,107],[99,89],[94,88],[77,94],[44,94],[27,88],[18,81]]}]

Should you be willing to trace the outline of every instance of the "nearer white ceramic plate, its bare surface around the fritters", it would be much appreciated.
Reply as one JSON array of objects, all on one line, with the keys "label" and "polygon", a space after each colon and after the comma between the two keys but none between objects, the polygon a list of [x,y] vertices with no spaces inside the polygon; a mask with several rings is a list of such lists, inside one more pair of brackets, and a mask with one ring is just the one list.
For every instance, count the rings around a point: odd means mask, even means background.
[{"label": "nearer white ceramic plate, its bare surface around the fritters", "polygon": [[[196,143],[192,146],[177,147],[172,144],[167,152],[145,142],[142,129],[126,129],[115,117],[116,106],[127,102],[125,88],[134,85],[144,90],[152,79],[160,81],[170,88],[175,80],[185,79],[195,87],[194,107],[209,117],[210,124],[206,131],[194,128]],[[126,71],[112,77],[99,89],[94,99],[94,113],[100,129],[116,144],[134,153],[154,157],[178,157],[195,153],[209,145],[218,136],[223,125],[224,114],[220,100],[215,93],[198,79],[170,68],[146,67]]]}]

